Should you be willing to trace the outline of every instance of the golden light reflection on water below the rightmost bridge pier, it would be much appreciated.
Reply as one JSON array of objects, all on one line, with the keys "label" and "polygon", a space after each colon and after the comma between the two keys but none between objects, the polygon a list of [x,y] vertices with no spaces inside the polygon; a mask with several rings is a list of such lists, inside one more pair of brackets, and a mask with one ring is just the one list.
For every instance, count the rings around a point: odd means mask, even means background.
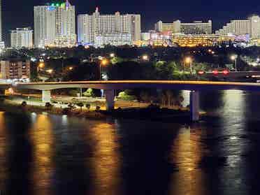
[{"label": "golden light reflection on water below the rightmost bridge pier", "polygon": [[203,173],[198,168],[203,147],[200,140],[201,129],[180,129],[171,155],[178,171],[173,173],[170,194],[206,194]]}]

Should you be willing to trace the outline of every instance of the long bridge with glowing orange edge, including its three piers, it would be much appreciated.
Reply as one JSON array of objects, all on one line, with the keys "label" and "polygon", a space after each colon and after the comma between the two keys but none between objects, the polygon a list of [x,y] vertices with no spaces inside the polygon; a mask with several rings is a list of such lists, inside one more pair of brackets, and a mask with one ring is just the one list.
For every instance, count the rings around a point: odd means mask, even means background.
[{"label": "long bridge with glowing orange edge, including its three piers", "polygon": [[[1,85],[0,85],[1,87]],[[113,110],[115,104],[115,89],[156,88],[189,90],[190,112],[193,121],[199,120],[199,91],[238,89],[243,91],[259,91],[259,83],[248,82],[210,82],[183,80],[110,80],[110,81],[78,81],[78,82],[31,82],[17,83],[17,89],[36,89],[42,91],[42,101],[50,102],[50,92],[63,88],[92,88],[104,89],[106,94],[106,108]]]}]

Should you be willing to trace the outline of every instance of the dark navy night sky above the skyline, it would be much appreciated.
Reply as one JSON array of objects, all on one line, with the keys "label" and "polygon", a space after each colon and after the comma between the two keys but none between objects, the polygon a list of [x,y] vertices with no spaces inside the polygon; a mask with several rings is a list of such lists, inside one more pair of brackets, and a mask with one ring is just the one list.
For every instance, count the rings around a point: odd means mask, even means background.
[{"label": "dark navy night sky above the skyline", "polygon": [[[62,1],[62,0],[60,0]],[[59,2],[60,2],[59,1]],[[3,36],[7,41],[8,31],[16,27],[33,27],[34,6],[52,2],[48,0],[2,0]],[[55,1],[57,2],[57,1]],[[256,0],[70,0],[76,13],[93,13],[99,6],[101,13],[140,13],[142,31],[153,29],[158,20],[183,22],[209,20],[213,30],[219,29],[231,19],[243,19],[253,13],[260,15],[260,3]]]}]

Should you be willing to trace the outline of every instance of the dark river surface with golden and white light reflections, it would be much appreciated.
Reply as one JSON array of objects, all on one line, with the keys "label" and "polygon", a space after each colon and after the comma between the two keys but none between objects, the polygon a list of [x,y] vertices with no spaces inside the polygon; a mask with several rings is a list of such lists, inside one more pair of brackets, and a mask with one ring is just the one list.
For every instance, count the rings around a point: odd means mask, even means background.
[{"label": "dark river surface with golden and white light reflections", "polygon": [[259,194],[260,94],[201,94],[190,126],[0,113],[5,194]]}]

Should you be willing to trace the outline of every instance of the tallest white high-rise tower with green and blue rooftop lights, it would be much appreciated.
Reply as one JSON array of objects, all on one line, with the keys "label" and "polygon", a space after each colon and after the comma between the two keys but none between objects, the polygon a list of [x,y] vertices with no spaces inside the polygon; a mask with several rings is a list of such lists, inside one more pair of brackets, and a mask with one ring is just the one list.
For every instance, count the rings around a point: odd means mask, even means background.
[{"label": "tallest white high-rise tower with green and blue rooftop lights", "polygon": [[68,0],[66,3],[35,6],[34,42],[36,48],[75,45],[75,6],[71,6]]}]

